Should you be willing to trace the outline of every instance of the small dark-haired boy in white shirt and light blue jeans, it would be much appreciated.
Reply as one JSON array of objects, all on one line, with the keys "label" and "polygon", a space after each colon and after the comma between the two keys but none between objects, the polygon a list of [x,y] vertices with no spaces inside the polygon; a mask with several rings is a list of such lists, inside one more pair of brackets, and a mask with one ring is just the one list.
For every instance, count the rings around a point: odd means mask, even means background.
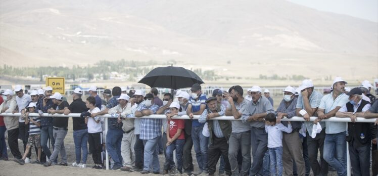
[{"label": "small dark-haired boy in white shirt and light blue jeans", "polygon": [[268,134],[268,150],[270,156],[270,173],[272,176],[281,176],[282,166],[282,131],[292,133],[292,124],[288,122],[288,127],[282,123],[276,123],[274,113],[269,113],[265,117],[265,131]]}]

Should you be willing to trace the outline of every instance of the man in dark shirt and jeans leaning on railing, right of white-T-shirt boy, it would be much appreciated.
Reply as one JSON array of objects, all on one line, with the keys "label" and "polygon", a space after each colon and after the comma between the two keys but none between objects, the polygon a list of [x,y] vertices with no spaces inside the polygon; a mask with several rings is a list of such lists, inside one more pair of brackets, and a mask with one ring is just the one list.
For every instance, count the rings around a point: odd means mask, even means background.
[{"label": "man in dark shirt and jeans leaning on railing, right of white-T-shirt boy", "polygon": [[[118,105],[117,99],[121,95],[121,87],[115,86],[112,90],[113,97],[108,101],[106,109],[98,112],[92,113],[91,117],[96,117],[99,115],[108,114],[109,110]],[[123,137],[122,122],[119,122],[117,118],[108,118],[108,133],[106,134],[106,149],[110,157],[114,161],[112,167],[113,170],[118,170],[122,167],[122,156],[121,156],[121,141]]]}]

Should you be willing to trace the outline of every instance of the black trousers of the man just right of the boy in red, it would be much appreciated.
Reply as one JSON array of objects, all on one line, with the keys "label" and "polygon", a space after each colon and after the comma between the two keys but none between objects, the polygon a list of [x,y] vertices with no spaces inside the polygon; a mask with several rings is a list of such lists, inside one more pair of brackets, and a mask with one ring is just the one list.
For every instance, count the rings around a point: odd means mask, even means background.
[{"label": "black trousers of the man just right of the boy in red", "polygon": [[184,168],[184,171],[194,171],[192,147],[192,135],[187,135],[185,133],[185,144],[182,147],[182,167]]}]

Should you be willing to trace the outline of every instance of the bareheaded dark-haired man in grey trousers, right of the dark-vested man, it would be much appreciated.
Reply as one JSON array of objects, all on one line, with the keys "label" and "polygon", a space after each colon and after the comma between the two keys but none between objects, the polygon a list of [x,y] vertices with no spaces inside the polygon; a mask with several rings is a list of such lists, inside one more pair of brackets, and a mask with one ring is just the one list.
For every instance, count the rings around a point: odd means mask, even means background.
[{"label": "bareheaded dark-haired man in grey trousers, right of the dark-vested man", "polygon": [[[243,98],[243,88],[240,85],[230,87],[228,92],[229,97],[227,100],[229,105],[226,109],[226,115],[239,119],[250,101]],[[228,143],[228,160],[232,175],[248,175],[251,166],[251,127],[241,120],[232,120],[231,123],[232,131]],[[241,153],[243,157],[241,169],[239,169],[238,164],[238,153]]]}]

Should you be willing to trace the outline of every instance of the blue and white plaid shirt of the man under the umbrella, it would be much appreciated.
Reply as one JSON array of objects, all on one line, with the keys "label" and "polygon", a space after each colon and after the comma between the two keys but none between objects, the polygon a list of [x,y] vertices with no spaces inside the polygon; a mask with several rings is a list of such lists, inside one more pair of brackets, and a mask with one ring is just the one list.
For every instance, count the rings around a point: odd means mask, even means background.
[{"label": "blue and white plaid shirt of the man under the umbrella", "polygon": [[[136,111],[142,111],[145,109],[151,110],[154,114],[158,111],[159,106],[153,104],[149,108],[146,107],[145,104],[138,106]],[[156,137],[161,136],[161,127],[162,127],[162,120],[161,119],[152,119],[152,118],[143,118],[140,121],[140,135],[139,139],[141,140],[151,140]]]}]

